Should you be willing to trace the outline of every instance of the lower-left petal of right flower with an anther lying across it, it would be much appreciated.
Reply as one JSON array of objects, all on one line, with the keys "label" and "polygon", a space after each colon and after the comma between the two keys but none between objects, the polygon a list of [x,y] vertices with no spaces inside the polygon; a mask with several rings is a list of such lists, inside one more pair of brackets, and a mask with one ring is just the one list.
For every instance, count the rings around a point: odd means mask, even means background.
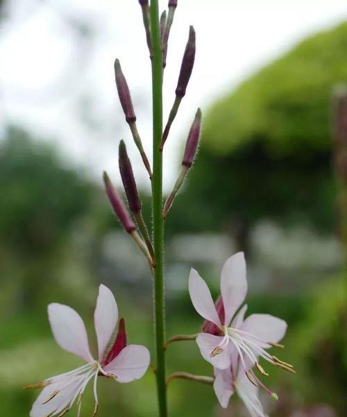
[{"label": "lower-left petal of right flower with an anther lying across it", "polygon": [[211,353],[221,344],[221,341],[223,341],[223,336],[214,336],[208,333],[200,333],[196,338],[203,359],[210,362],[215,368],[226,369],[230,366],[228,346],[223,352],[211,357]]}]

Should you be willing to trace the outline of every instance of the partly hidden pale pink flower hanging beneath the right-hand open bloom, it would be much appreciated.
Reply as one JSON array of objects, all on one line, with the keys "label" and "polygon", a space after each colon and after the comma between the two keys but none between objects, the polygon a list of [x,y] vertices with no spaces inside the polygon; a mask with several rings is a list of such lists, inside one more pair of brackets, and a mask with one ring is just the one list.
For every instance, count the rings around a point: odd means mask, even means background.
[{"label": "partly hidden pale pink flower hanging beneath the right-hand open bloom", "polygon": [[[257,386],[251,384],[244,372],[232,372],[232,367],[227,369],[214,368],[214,392],[217,395],[221,407],[228,407],[228,402],[233,393],[237,393],[244,402],[252,417],[268,417],[264,413],[262,404],[258,398]],[[276,398],[276,397],[273,397]]]}]

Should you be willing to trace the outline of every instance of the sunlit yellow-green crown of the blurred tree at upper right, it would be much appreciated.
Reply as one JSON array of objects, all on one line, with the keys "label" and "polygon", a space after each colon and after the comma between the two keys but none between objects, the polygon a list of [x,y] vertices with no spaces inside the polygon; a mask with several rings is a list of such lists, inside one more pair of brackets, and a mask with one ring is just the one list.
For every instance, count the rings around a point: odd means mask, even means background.
[{"label": "sunlit yellow-green crown of the blurred tree at upper right", "polygon": [[226,155],[260,139],[273,156],[330,150],[330,95],[347,80],[347,23],[314,35],[215,104],[203,146]]}]

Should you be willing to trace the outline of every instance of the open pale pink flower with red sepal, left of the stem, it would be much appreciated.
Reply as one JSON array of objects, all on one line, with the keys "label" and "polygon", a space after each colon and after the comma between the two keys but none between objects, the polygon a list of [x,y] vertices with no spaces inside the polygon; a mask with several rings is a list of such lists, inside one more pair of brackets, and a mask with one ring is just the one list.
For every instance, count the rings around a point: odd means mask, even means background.
[{"label": "open pale pink flower with red sepal, left of the stem", "polygon": [[53,336],[62,349],[74,353],[86,361],[85,365],[62,375],[44,379],[26,388],[43,388],[31,409],[31,417],[63,416],[77,400],[80,416],[83,392],[88,382],[94,380],[96,415],[99,401],[96,393],[98,376],[112,377],[117,382],[131,382],[141,378],[149,367],[149,350],[141,345],[126,345],[124,319],[119,320],[115,342],[108,352],[106,348],[115,331],[118,309],[115,297],[104,285],[99,287],[96,300],[94,325],[99,349],[97,359],[92,357],[87,332],[81,316],[71,307],[53,303],[48,306],[49,322]]}]

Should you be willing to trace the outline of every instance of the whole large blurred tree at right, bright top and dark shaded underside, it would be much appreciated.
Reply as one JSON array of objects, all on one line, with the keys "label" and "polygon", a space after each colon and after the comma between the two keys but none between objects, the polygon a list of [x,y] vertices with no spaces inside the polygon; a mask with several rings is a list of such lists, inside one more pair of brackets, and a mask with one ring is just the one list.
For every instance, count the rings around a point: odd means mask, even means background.
[{"label": "whole large blurred tree at right, bright top and dark shaded underside", "polygon": [[245,235],[259,218],[335,229],[330,95],[347,81],[346,49],[344,23],[308,38],[212,106],[169,229]]}]

